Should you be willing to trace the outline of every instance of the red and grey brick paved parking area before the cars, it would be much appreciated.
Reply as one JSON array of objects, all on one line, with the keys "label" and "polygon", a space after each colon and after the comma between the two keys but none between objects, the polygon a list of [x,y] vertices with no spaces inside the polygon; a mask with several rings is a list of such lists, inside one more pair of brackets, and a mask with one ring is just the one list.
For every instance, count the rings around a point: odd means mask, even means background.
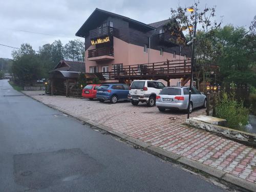
[{"label": "red and grey brick paved parking area before the cars", "polygon": [[[169,152],[256,183],[255,148],[183,125],[186,119],[184,112],[161,113],[156,107],[148,108],[143,103],[133,106],[130,102],[110,104],[96,100],[38,95],[38,91],[25,93],[74,116],[96,121]],[[198,109],[191,116],[204,112],[204,109]]]}]

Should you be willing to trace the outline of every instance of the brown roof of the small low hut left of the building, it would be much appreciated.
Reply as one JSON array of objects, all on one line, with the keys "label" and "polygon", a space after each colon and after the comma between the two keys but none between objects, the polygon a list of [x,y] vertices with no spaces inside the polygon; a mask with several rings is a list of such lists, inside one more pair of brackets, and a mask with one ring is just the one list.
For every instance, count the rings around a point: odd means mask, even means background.
[{"label": "brown roof of the small low hut left of the building", "polygon": [[76,71],[85,72],[86,64],[82,61],[60,60],[53,71]]}]

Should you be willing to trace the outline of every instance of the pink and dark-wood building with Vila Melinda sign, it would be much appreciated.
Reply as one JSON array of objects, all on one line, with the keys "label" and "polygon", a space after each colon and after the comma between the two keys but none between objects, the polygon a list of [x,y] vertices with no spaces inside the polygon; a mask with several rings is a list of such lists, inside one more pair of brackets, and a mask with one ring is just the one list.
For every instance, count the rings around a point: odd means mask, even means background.
[{"label": "pink and dark-wood building with Vila Melinda sign", "polygon": [[[138,72],[142,74],[143,69],[153,68],[151,72],[143,72],[148,75],[160,74],[160,70],[167,70],[167,67],[166,69],[158,67],[157,70],[154,64],[152,67],[150,63],[163,63],[169,60],[176,62],[176,66],[184,65],[184,60],[190,55],[189,51],[186,47],[183,48],[176,44],[177,37],[164,32],[163,26],[167,22],[170,20],[144,24],[96,8],[76,33],[76,36],[85,38],[86,72],[103,73],[105,79],[111,79],[109,77],[111,73],[118,72],[123,75],[123,78],[131,79],[131,70],[133,74]],[[173,71],[175,72],[175,68]],[[179,79],[187,78],[184,75],[186,74],[164,77],[158,75],[156,78],[165,80],[167,77],[178,78],[179,81]]]}]

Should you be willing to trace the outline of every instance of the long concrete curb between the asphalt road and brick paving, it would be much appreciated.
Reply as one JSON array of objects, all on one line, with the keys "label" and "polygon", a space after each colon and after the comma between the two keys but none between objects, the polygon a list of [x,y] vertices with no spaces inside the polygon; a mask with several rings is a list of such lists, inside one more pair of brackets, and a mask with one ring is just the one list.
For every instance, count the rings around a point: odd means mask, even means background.
[{"label": "long concrete curb between the asphalt road and brick paving", "polygon": [[92,126],[95,126],[97,127],[98,129],[100,130],[103,130],[103,131],[106,131],[108,132],[109,134],[111,135],[114,135],[116,137],[119,137],[125,141],[129,141],[131,143],[134,143],[142,148],[144,148],[145,151],[148,151],[156,156],[164,156],[164,157],[167,157],[175,162],[178,162],[180,164],[183,164],[185,166],[188,166],[188,167],[191,167],[191,168],[195,168],[197,170],[200,170],[201,172],[204,172],[212,177],[215,177],[215,178],[218,178],[220,181],[224,181],[224,182],[227,182],[227,183],[230,183],[232,185],[236,185],[240,188],[243,188],[243,189],[246,189],[246,190],[249,190],[249,191],[253,191],[253,192],[256,192],[256,183],[251,183],[251,182],[248,182],[244,179],[241,179],[239,177],[236,177],[236,176],[233,176],[233,175],[230,175],[230,174],[227,174],[225,172],[223,172],[222,170],[218,170],[214,167],[210,167],[210,166],[207,166],[207,165],[204,165],[202,163],[199,163],[197,161],[194,161],[194,160],[191,160],[191,159],[188,159],[186,157],[182,157],[180,155],[177,155],[177,154],[174,154],[172,152],[168,152],[166,150],[163,150],[162,148],[160,147],[157,147],[157,146],[154,146],[154,145],[151,145],[149,143],[146,143],[146,142],[143,142],[143,141],[140,141],[139,139],[136,139],[134,137],[131,137],[131,136],[128,136],[128,135],[125,135],[119,131],[116,131],[116,130],[113,130],[111,129],[110,127],[108,126],[105,126],[105,125],[102,125],[102,124],[99,124],[95,121],[92,121],[90,119],[87,119],[87,118],[84,118],[84,117],[81,117],[81,116],[74,116],[73,114],[61,109],[61,108],[58,108],[57,106],[53,106],[51,104],[46,104],[44,102],[41,102],[40,100],[37,100],[35,98],[33,98],[32,96],[30,95],[27,95],[26,93],[22,92],[23,94],[25,94],[26,96],[42,103],[42,104],[45,104],[46,106],[50,107],[50,108],[53,108],[55,110],[58,110],[62,113],[65,113],[71,117],[74,117],[75,119],[77,120],[80,120],[80,121],[83,121],[83,122],[86,122]]}]

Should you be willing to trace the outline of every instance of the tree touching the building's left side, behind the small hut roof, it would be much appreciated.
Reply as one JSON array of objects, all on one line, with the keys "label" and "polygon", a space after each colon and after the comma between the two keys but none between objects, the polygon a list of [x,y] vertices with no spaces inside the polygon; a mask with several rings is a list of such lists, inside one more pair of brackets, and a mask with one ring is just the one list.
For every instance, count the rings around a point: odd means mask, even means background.
[{"label": "tree touching the building's left side, behind the small hut roof", "polygon": [[70,40],[64,47],[66,60],[83,61],[84,60],[84,42],[75,39]]}]

